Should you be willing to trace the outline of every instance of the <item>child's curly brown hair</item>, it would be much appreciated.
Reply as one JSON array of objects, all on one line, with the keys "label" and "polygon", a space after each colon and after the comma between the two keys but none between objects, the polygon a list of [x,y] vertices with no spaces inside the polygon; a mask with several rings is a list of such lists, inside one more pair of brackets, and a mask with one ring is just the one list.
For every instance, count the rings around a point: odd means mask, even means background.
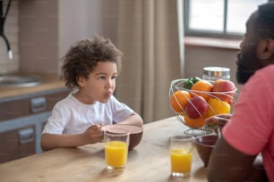
[{"label": "child's curly brown hair", "polygon": [[104,37],[94,36],[72,45],[63,57],[62,76],[65,86],[79,87],[77,79],[88,79],[98,62],[115,62],[118,72],[122,68],[123,53]]}]

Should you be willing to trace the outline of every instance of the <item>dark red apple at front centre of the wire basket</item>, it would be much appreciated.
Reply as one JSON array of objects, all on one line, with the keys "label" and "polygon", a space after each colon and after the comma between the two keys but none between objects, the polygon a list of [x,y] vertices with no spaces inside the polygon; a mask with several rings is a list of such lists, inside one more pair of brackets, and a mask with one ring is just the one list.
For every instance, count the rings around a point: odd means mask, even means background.
[{"label": "dark red apple at front centre of the wire basket", "polygon": [[185,114],[190,119],[197,119],[203,116],[209,109],[209,104],[207,101],[199,96],[193,96],[184,107]]}]

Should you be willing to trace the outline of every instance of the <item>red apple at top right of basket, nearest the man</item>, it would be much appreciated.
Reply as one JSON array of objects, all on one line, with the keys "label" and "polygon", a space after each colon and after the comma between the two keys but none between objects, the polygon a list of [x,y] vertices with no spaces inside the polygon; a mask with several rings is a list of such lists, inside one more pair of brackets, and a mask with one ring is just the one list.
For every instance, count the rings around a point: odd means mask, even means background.
[{"label": "red apple at top right of basket, nearest the man", "polygon": [[227,103],[233,103],[233,97],[235,95],[235,84],[227,79],[217,79],[213,84],[212,92],[227,92],[214,95],[222,101],[227,101]]}]

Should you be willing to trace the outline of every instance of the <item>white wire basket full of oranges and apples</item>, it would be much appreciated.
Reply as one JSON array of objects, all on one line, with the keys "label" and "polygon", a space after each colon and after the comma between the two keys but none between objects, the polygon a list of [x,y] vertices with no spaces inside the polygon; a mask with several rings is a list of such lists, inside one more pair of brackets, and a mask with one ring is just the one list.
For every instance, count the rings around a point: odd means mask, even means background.
[{"label": "white wire basket full of oranges and apples", "polygon": [[169,88],[169,103],[176,119],[189,129],[187,134],[208,135],[214,128],[204,120],[216,114],[228,114],[235,103],[235,84],[227,79],[175,79]]}]

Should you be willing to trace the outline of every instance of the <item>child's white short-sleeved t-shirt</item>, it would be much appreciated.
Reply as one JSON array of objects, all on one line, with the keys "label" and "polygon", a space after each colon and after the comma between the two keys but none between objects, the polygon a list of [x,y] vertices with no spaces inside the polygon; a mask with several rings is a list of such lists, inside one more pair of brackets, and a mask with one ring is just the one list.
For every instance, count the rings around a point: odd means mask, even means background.
[{"label": "child's white short-sleeved t-shirt", "polygon": [[77,134],[83,133],[91,125],[111,125],[121,122],[133,114],[133,110],[111,96],[107,103],[81,103],[73,92],[56,103],[43,133]]}]

